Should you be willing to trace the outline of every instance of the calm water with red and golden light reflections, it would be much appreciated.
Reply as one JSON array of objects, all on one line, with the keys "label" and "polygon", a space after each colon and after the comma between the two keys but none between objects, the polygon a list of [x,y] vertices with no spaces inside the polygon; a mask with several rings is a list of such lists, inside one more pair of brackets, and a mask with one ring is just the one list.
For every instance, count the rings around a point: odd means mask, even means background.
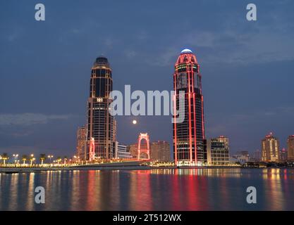
[{"label": "calm water with red and golden light reflections", "polygon": [[0,184],[0,210],[294,210],[294,169],[39,172],[0,174]]}]

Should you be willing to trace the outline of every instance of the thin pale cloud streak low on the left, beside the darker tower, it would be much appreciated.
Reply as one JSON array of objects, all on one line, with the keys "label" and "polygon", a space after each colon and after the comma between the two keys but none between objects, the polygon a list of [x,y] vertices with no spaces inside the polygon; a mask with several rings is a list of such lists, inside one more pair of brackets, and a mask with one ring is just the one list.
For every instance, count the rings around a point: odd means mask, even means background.
[{"label": "thin pale cloud streak low on the left, beside the darker tower", "polygon": [[71,115],[44,115],[38,113],[0,114],[0,126],[47,124],[51,120],[68,120]]}]

